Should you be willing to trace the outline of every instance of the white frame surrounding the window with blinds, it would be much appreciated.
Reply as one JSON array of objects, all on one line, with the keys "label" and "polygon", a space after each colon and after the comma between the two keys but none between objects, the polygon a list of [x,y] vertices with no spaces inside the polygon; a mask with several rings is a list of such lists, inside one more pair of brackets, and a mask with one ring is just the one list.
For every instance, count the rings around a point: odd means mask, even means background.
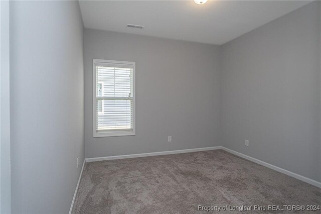
[{"label": "white frame surrounding the window with blinds", "polygon": [[[99,63],[106,63],[109,65],[114,65],[114,66],[124,66],[124,65],[130,65],[133,67],[132,70],[132,130],[124,130],[124,131],[119,131],[119,130],[110,130],[110,131],[100,131],[97,132],[97,127],[96,127],[96,111],[97,111],[97,106],[96,106],[96,64]],[[115,61],[115,60],[105,60],[105,59],[93,59],[93,137],[94,138],[99,138],[99,137],[115,137],[115,136],[130,136],[130,135],[135,135],[135,98],[136,98],[136,93],[135,93],[135,62],[129,62],[129,61]]]}]

